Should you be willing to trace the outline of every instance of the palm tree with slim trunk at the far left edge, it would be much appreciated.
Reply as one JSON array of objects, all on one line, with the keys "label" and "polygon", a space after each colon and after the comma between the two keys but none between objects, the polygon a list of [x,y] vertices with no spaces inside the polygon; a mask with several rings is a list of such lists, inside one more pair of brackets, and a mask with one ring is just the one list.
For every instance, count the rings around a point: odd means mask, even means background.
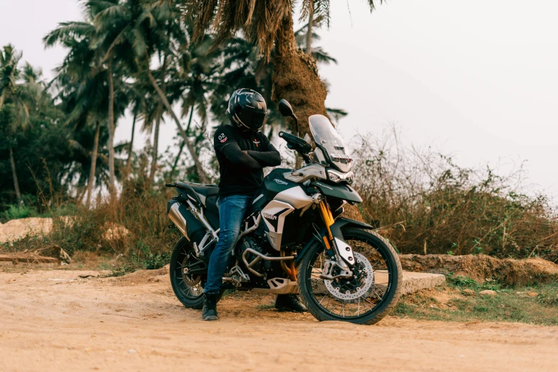
[{"label": "palm tree with slim trunk at the far left edge", "polygon": [[[19,69],[21,56],[22,53],[18,53],[10,44],[4,46],[0,53],[0,110],[7,102],[14,107],[14,120],[10,123],[9,133],[24,130],[29,125],[30,112],[36,109],[43,92],[42,83],[38,81],[41,75],[39,71],[34,70],[29,63],[23,70]],[[13,145],[9,146],[9,155],[14,190],[18,202],[22,204]]]}]

